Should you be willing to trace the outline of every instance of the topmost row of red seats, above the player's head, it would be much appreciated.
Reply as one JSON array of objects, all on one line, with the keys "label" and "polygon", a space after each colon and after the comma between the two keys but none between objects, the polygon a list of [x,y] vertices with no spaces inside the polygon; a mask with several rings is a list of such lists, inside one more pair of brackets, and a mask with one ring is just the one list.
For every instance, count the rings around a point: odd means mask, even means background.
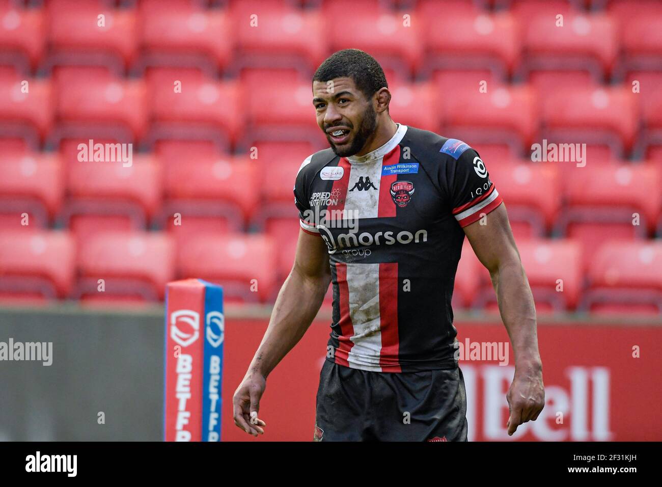
[{"label": "topmost row of red seats, above the player's head", "polygon": [[[409,72],[485,62],[512,72],[558,66],[562,59],[563,66],[581,62],[609,74],[621,55],[630,66],[650,64],[662,53],[659,2],[641,2],[636,9],[628,3],[612,1],[604,11],[585,12],[567,1],[519,1],[489,12],[457,0],[422,0],[402,11],[385,9],[379,0],[324,1],[318,9],[282,0],[230,1],[225,9],[186,0],[142,0],[136,8],[50,0],[42,9],[21,9],[5,0],[0,47],[29,66],[47,68],[103,56],[118,70],[200,60],[213,70],[256,62],[295,62],[310,70],[328,53],[352,45]],[[328,22],[350,11],[342,22]],[[564,16],[562,26],[558,15]]]}]

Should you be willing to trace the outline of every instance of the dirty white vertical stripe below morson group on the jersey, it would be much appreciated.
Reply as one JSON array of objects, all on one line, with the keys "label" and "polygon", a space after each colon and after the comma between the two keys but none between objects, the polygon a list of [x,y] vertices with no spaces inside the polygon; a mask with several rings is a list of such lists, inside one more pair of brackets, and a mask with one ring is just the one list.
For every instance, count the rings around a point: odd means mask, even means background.
[{"label": "dirty white vertical stripe below morson group on the jersey", "polygon": [[381,372],[381,318],[379,264],[346,264],[354,346],[348,354],[351,368]]}]

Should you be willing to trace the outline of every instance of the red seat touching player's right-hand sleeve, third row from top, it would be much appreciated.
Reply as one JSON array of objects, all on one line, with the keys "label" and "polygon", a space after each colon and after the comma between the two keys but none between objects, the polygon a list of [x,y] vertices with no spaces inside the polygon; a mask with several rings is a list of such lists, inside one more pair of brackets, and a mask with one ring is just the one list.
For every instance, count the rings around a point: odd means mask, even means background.
[{"label": "red seat touching player's right-hand sleeve, third row from top", "polygon": [[557,163],[509,164],[498,172],[488,166],[488,170],[508,207],[511,224],[526,223],[532,229],[528,235],[542,237],[561,209]]}]

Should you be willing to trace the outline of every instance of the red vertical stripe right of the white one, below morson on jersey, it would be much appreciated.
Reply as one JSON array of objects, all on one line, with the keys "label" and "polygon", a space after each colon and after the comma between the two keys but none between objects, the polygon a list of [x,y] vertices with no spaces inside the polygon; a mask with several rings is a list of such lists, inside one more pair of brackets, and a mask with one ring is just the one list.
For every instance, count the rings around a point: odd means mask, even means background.
[{"label": "red vertical stripe right of the white one, below morson on jersey", "polygon": [[400,335],[398,333],[398,263],[379,264],[379,322],[382,372],[402,372],[398,361]]}]

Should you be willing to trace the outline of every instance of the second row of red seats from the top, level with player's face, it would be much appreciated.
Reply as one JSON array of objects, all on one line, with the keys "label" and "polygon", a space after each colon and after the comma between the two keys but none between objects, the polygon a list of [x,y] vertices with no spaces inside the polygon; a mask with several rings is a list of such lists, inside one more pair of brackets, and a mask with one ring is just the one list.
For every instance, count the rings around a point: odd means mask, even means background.
[{"label": "second row of red seats from the top, level with player's face", "polygon": [[[0,124],[8,136],[45,139],[52,146],[90,135],[148,146],[193,138],[236,150],[256,140],[324,142],[309,80],[289,78],[287,71],[254,74],[243,81],[171,70],[140,80],[81,75],[77,69],[52,80],[0,74]],[[635,144],[662,145],[662,72],[637,80],[637,91],[628,84],[577,85],[574,78],[562,83],[555,74],[540,78],[538,89],[488,84],[482,92],[483,74],[443,72],[438,81],[391,83],[391,115],[474,143],[509,144],[518,155],[541,138],[606,146],[616,156],[630,154]]]}]

